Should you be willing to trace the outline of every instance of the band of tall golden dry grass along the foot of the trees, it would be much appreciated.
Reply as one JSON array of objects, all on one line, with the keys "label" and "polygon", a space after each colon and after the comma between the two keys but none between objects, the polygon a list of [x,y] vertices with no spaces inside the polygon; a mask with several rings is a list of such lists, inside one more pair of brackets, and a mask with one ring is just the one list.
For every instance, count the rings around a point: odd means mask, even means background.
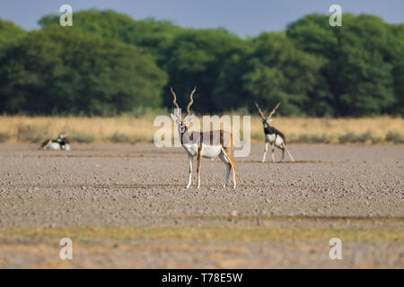
[{"label": "band of tall golden dry grass along the foot of the trees", "polygon": [[[166,115],[169,116],[169,115]],[[259,117],[251,117],[251,143],[263,141]],[[273,121],[289,143],[404,143],[402,117],[276,117]],[[2,142],[39,143],[61,131],[79,143],[153,142],[154,116],[26,117],[0,116]],[[171,121],[172,130],[176,129]]]}]

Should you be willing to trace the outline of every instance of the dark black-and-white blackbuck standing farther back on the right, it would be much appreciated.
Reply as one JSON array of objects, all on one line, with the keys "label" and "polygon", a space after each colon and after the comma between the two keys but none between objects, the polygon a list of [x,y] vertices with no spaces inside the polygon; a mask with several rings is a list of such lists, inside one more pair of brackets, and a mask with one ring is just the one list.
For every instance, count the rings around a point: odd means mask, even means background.
[{"label": "dark black-and-white blackbuck standing farther back on the right", "polygon": [[272,116],[277,111],[279,105],[280,103],[277,103],[277,106],[274,109],[272,109],[272,111],[269,113],[269,116],[265,117],[262,110],[259,109],[258,103],[255,102],[255,106],[259,110],[259,115],[261,115],[262,118],[262,125],[264,126],[264,133],[265,133],[265,151],[264,151],[264,157],[262,158],[262,162],[265,162],[265,158],[267,156],[268,143],[271,144],[272,162],[275,161],[275,155],[274,155],[275,147],[282,150],[282,161],[285,160],[285,150],[289,154],[291,160],[294,161],[292,154],[290,154],[290,152],[287,150],[285,135],[282,134],[280,131],[278,131],[274,126],[269,125],[269,123],[272,121]]}]

